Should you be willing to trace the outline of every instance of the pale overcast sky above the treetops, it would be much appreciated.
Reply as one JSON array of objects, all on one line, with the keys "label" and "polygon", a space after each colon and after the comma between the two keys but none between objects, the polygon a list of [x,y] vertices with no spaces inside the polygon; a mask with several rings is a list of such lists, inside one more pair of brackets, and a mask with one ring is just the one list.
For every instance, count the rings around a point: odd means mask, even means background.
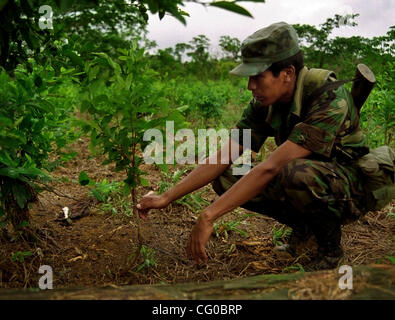
[{"label": "pale overcast sky above the treetops", "polygon": [[196,3],[186,3],[182,7],[190,15],[186,17],[186,26],[170,15],[162,20],[157,15],[150,15],[148,38],[155,40],[159,48],[167,48],[204,34],[211,40],[211,52],[216,53],[221,35],[242,41],[256,30],[279,21],[318,27],[335,14],[359,13],[357,27],[342,26],[333,35],[368,38],[384,35],[390,26],[395,25],[395,0],[266,0],[265,3],[240,2],[240,5],[254,18]]}]

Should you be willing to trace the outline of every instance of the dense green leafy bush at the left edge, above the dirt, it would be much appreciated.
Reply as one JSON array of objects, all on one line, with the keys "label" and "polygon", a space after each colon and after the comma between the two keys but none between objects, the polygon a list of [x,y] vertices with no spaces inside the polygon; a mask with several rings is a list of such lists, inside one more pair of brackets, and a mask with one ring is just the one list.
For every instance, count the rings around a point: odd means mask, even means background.
[{"label": "dense green leafy bush at the left edge, above the dirt", "polygon": [[[30,61],[34,64],[34,60]],[[0,222],[15,230],[28,226],[28,204],[37,198],[36,182],[48,180],[45,169],[54,148],[67,144],[73,131],[68,122],[74,93],[63,75],[51,67],[19,66],[15,78],[0,73]]]}]

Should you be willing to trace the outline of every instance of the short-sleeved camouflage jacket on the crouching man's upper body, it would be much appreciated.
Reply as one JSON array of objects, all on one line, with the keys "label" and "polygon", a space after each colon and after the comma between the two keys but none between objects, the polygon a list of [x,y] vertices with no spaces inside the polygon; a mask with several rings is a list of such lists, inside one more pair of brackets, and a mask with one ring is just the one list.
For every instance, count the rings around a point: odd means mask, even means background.
[{"label": "short-sleeved camouflage jacket on the crouching man's upper body", "polygon": [[251,149],[258,152],[267,137],[280,145],[290,140],[312,151],[310,158],[353,161],[369,152],[351,94],[344,87],[326,91],[315,101],[311,94],[335,81],[333,72],[304,67],[296,81],[292,103],[262,105],[253,99],[244,110],[238,129],[251,129]]}]

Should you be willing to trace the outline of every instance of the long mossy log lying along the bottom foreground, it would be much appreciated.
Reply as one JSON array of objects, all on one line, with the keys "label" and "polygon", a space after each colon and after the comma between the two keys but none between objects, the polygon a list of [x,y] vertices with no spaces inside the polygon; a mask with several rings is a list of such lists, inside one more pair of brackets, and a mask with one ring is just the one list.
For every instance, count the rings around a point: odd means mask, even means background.
[{"label": "long mossy log lying along the bottom foreground", "polygon": [[0,289],[0,300],[375,300],[395,299],[395,266],[353,266],[353,288],[340,289],[337,269],[257,275],[206,283],[53,290]]}]

